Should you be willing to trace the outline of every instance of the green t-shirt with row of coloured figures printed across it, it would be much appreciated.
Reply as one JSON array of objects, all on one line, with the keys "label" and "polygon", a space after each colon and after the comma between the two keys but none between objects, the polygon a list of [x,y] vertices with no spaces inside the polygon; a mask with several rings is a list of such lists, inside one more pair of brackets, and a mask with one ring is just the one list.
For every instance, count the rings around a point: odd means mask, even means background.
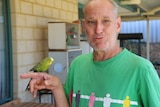
[{"label": "green t-shirt with row of coloured figures printed across it", "polygon": [[93,53],[78,56],[64,90],[72,107],[160,107],[154,66],[127,49],[105,61],[93,61]]}]

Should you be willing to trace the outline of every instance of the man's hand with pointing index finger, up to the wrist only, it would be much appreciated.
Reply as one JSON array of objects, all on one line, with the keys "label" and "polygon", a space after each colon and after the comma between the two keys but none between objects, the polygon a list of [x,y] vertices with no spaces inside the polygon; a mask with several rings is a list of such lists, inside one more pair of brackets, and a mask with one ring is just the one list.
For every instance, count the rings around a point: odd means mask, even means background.
[{"label": "man's hand with pointing index finger, up to the wrist only", "polygon": [[53,91],[62,88],[61,81],[56,76],[51,76],[47,73],[27,73],[20,75],[20,78],[32,78],[30,81],[30,92],[34,97],[37,96],[37,91],[48,89]]}]

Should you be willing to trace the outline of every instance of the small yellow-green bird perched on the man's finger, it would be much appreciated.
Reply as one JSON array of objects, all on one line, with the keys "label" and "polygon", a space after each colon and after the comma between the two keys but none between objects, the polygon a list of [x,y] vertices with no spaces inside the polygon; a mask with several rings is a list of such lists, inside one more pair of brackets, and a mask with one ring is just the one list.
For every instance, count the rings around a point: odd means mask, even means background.
[{"label": "small yellow-green bird perched on the man's finger", "polygon": [[[31,68],[29,71],[33,71],[33,72],[47,72],[47,70],[49,69],[49,67],[52,65],[54,59],[52,57],[46,57],[43,60],[41,60],[40,62],[38,62],[35,66],[33,66],[33,68]],[[31,81],[31,79],[30,79]],[[29,81],[29,83],[30,83]],[[29,90],[29,83],[26,87],[26,90]]]}]

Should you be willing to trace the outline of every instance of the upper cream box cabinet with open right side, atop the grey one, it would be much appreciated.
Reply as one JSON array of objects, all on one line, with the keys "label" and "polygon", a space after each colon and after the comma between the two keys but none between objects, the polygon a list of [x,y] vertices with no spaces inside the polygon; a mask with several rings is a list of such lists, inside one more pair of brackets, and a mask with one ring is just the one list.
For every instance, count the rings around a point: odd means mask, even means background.
[{"label": "upper cream box cabinet with open right side, atop the grey one", "polygon": [[80,27],[77,23],[48,22],[48,47],[51,50],[80,48]]}]

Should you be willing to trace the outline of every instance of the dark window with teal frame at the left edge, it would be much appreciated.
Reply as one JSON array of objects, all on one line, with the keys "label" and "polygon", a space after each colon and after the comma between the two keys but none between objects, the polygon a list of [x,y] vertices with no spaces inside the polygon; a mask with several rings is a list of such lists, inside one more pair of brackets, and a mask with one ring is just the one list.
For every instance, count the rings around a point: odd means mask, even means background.
[{"label": "dark window with teal frame at the left edge", "polygon": [[0,104],[12,100],[12,40],[9,0],[0,0]]}]

